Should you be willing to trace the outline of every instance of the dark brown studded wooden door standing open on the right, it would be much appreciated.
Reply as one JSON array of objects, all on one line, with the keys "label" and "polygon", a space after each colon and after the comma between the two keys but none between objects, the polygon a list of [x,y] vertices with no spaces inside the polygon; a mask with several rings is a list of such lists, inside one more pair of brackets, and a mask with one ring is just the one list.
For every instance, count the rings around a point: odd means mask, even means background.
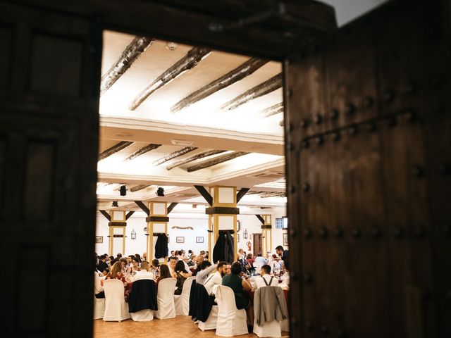
[{"label": "dark brown studded wooden door standing open on the right", "polygon": [[299,337],[451,337],[450,8],[393,2],[285,62]]}]

